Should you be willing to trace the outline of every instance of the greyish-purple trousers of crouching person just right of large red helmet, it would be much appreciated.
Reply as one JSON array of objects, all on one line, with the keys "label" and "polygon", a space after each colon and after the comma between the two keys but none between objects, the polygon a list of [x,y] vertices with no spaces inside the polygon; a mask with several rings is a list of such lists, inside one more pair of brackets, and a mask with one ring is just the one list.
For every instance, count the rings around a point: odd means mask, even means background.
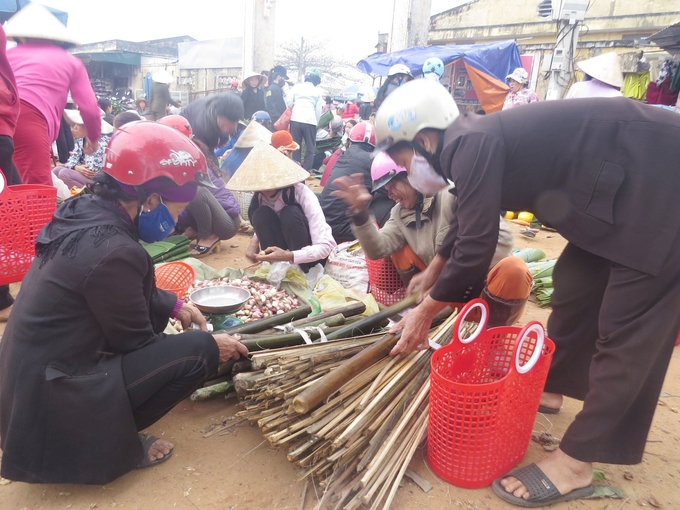
[{"label": "greyish-purple trousers of crouching person just right of large red helmet", "polygon": [[200,239],[215,234],[222,241],[231,239],[241,224],[238,216],[229,216],[207,188],[199,186],[196,196],[186,208],[191,227]]}]

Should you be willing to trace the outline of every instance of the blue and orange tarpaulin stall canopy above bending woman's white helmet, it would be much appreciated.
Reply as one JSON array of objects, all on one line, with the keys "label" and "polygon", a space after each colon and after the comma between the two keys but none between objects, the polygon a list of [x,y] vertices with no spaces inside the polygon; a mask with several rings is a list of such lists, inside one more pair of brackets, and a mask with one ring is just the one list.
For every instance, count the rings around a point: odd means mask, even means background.
[{"label": "blue and orange tarpaulin stall canopy above bending woman's white helmet", "polygon": [[477,97],[487,113],[502,108],[508,91],[505,77],[522,67],[514,40],[487,44],[414,46],[394,53],[374,53],[360,60],[357,67],[368,74],[387,76],[390,67],[404,64],[414,76],[418,76],[430,57],[439,57],[444,65],[463,59]]}]

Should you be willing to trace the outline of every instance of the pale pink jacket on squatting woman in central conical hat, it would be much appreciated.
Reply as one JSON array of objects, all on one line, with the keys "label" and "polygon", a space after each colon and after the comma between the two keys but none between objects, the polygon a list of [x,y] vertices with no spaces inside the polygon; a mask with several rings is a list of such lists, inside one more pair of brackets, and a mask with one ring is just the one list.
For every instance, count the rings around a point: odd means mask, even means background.
[{"label": "pale pink jacket on squatting woman in central conical hat", "polygon": [[[326,223],[326,217],[323,215],[319,199],[316,198],[314,192],[307,187],[304,182],[298,183],[295,188],[295,201],[300,204],[302,211],[307,217],[309,223],[309,233],[312,236],[312,244],[305,246],[300,250],[293,252],[293,263],[304,264],[306,262],[314,262],[328,257],[337,246],[335,239],[333,239],[333,232],[331,227]],[[274,212],[279,212],[286,204],[283,201],[283,196],[279,193],[279,197],[272,204],[260,194],[260,207],[271,207]]]}]

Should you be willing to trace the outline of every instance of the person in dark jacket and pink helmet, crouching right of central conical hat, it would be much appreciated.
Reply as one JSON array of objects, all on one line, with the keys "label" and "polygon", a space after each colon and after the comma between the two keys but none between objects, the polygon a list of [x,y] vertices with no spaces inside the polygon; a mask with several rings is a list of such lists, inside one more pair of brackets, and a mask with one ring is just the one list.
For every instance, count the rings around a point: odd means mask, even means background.
[{"label": "person in dark jacket and pink helmet, crouching right of central conical hat", "polygon": [[[338,244],[353,241],[356,236],[352,232],[352,224],[347,216],[347,204],[342,198],[332,195],[333,191],[337,189],[333,185],[333,181],[338,177],[348,177],[352,174],[361,173],[364,175],[366,188],[371,189],[373,187],[371,179],[371,153],[375,149],[373,125],[368,122],[360,122],[352,128],[349,139],[350,147],[333,166],[331,176],[323,188],[321,198],[319,198],[321,209],[326,216],[326,223],[331,226],[333,238]],[[373,194],[369,210],[379,226],[382,227],[389,219],[390,211],[394,205],[395,202],[387,196],[386,189],[381,188]]]}]

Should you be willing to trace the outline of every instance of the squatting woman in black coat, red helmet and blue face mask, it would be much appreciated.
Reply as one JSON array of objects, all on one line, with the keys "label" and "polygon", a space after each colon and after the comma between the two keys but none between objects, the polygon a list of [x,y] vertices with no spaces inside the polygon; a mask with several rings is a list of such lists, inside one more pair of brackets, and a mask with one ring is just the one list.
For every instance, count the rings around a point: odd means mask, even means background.
[{"label": "squatting woman in black coat, red helmet and blue face mask", "polygon": [[[248,352],[157,289],[138,242],[166,237],[208,185],[201,151],[135,122],[106,156],[93,194],[66,201],[40,232],[0,344],[0,475],[10,480],[106,484],[166,460],[173,445],[138,431]],[[169,317],[201,331],[166,336]]]}]

